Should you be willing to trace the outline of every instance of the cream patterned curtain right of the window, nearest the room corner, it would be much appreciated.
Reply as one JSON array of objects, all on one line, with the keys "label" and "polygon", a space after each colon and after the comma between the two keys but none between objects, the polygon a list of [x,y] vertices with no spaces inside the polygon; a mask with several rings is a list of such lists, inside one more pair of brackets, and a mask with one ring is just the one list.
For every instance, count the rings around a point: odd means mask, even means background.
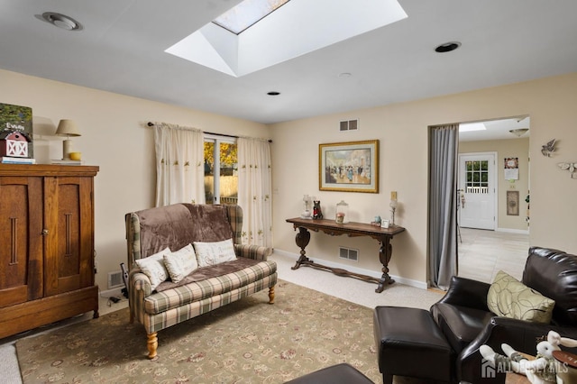
[{"label": "cream patterned curtain right of the window, nearest the room corner", "polygon": [[238,204],[243,208],[243,243],[272,248],[270,143],[238,139]]}]

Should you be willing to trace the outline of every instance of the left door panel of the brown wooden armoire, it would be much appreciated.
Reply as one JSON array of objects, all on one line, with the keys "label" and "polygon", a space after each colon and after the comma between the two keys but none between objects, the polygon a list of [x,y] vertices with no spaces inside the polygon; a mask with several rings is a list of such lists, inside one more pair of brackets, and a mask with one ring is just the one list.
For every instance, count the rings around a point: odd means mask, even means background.
[{"label": "left door panel of the brown wooden armoire", "polygon": [[42,296],[41,178],[0,178],[0,307]]}]

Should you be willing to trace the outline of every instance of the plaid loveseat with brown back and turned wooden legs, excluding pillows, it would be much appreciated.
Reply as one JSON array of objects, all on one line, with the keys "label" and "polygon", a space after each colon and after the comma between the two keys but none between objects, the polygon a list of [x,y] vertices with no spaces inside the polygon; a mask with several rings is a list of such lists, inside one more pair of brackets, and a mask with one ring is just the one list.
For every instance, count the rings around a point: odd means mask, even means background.
[{"label": "plaid loveseat with brown back and turned wooden legs, excluding pillows", "polygon": [[[197,315],[269,288],[274,302],[277,265],[270,248],[243,245],[240,206],[175,204],[125,215],[128,251],[130,321],[144,325],[148,357],[156,357],[157,333]],[[165,281],[152,290],[136,260],[169,247],[177,251],[193,242],[233,239],[237,259],[193,271],[179,284]]]}]

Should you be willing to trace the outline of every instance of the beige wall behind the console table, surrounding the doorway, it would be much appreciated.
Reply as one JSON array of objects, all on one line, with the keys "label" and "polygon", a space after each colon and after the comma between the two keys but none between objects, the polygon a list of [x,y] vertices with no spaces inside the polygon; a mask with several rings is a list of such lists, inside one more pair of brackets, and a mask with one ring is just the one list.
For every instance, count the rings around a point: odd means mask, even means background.
[{"label": "beige wall behind the console table, surrounding the doorway", "polygon": [[[353,221],[368,223],[377,214],[389,217],[389,192],[397,190],[400,203],[397,221],[407,232],[392,242],[390,273],[411,282],[426,283],[427,127],[528,114],[531,116],[530,243],[577,252],[574,235],[577,179],[569,178],[568,172],[556,165],[562,160],[577,160],[574,105],[577,105],[577,73],[274,124],[275,248],[298,253],[295,232],[285,219],[298,216],[303,194],[320,198],[327,217],[334,215],[334,205],[344,199],[350,205]],[[351,118],[360,119],[360,130],[340,133],[338,122]],[[541,145],[553,138],[559,141],[558,151],[552,158],[545,158],[540,152]],[[380,140],[379,194],[318,190],[319,143],[373,139]],[[313,233],[311,237],[307,254],[314,259],[380,270],[377,242],[322,233]],[[359,249],[360,261],[338,259],[339,246]]]}]

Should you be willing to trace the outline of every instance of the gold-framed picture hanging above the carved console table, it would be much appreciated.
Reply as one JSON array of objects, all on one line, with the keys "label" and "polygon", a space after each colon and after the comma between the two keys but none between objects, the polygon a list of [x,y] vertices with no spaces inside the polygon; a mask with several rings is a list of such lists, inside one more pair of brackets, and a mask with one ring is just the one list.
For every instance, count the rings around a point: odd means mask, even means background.
[{"label": "gold-framed picture hanging above the carved console table", "polygon": [[318,145],[318,188],[379,193],[379,141]]}]

